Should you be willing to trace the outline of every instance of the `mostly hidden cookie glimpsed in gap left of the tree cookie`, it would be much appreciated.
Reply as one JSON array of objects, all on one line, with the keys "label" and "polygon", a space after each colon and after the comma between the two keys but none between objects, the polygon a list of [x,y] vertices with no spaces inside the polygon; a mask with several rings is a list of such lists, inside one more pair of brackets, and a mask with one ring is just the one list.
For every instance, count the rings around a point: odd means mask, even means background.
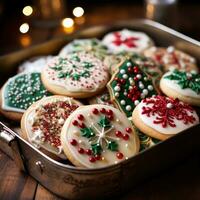
[{"label": "mostly hidden cookie glimpsed in gap left of the tree cookie", "polygon": [[88,99],[88,101],[90,104],[103,104],[103,105],[108,105],[108,106],[114,106],[107,89],[104,90],[101,94],[98,94]]}]

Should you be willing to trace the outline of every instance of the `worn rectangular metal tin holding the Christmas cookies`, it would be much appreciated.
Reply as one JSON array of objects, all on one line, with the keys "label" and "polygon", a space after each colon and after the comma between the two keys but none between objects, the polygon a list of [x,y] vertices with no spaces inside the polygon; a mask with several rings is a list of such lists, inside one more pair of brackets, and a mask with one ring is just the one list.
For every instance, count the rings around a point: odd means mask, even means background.
[{"label": "worn rectangular metal tin holding the Christmas cookies", "polygon": [[[18,63],[25,59],[57,53],[64,44],[74,38],[101,38],[105,33],[121,28],[143,31],[152,37],[157,46],[173,45],[197,59],[200,58],[198,41],[153,21],[123,21],[114,25],[87,28],[70,37],[53,39],[2,56],[0,57],[1,82],[13,74]],[[11,130],[10,122],[3,119],[1,121],[1,150],[13,158],[21,170],[34,177],[44,187],[69,199],[97,199],[122,194],[141,181],[194,154],[200,147],[200,125],[197,125],[117,165],[99,169],[81,169],[49,158]]]}]

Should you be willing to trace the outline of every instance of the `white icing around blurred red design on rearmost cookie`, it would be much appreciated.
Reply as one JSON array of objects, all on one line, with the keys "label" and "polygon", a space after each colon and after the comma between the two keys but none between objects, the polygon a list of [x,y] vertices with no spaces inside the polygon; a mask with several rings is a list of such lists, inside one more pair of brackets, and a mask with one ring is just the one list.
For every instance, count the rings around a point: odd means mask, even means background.
[{"label": "white icing around blurred red design on rearmost cookie", "polygon": [[108,47],[108,49],[113,53],[120,53],[123,51],[140,53],[143,50],[145,50],[153,45],[152,40],[145,33],[130,31],[128,29],[123,29],[118,32],[121,34],[122,39],[126,39],[127,37],[138,37],[139,40],[136,40],[134,42],[137,45],[137,47],[128,47],[125,44],[116,46],[113,43],[113,41],[115,40],[114,33],[113,32],[108,33],[107,35],[104,36],[102,43],[104,45],[106,45]]}]

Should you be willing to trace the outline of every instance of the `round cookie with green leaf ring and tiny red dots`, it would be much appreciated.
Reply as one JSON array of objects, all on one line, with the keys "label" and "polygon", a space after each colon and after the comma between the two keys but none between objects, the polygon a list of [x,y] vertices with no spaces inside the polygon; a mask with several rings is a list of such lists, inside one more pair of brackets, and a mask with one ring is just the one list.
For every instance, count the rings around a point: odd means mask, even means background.
[{"label": "round cookie with green leaf ring and tiny red dots", "polygon": [[98,94],[108,80],[103,62],[87,52],[55,57],[42,71],[42,81],[49,91],[77,98]]}]

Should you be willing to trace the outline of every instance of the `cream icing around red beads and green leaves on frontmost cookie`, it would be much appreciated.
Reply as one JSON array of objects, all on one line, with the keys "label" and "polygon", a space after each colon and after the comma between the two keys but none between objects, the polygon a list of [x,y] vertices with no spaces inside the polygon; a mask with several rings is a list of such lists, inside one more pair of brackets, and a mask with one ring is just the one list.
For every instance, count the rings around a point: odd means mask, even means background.
[{"label": "cream icing around red beads and green leaves on frontmost cookie", "polygon": [[[99,117],[103,116],[101,114],[99,115],[94,115],[91,114],[92,117],[88,118],[87,117],[87,113],[92,113],[92,110],[94,108],[97,109],[101,109],[101,108],[105,108],[105,109],[110,109],[113,111],[114,113],[114,117],[116,117],[117,119],[121,119],[120,123],[116,122],[116,120],[112,120],[112,126],[107,130],[105,130],[104,128],[100,128],[97,125],[97,122],[99,121]],[[100,142],[100,144],[103,143],[104,140],[106,139],[112,139],[112,140],[116,140],[118,143],[118,151],[123,153],[123,159],[118,159],[116,157],[116,153],[115,151],[110,151],[107,150],[106,148],[104,149],[104,151],[102,152],[101,156],[103,157],[103,159],[101,161],[96,161],[94,163],[89,161],[89,156],[87,156],[86,154],[80,154],[77,151],[77,146],[73,146],[70,144],[70,141],[72,139],[75,139],[76,141],[82,140],[84,142],[84,145],[79,146],[81,148],[84,149],[89,149],[90,148],[90,143],[88,138],[86,137],[82,137],[81,133],[80,133],[80,129],[77,126],[73,126],[72,122],[74,119],[76,119],[76,117],[79,114],[83,114],[84,115],[84,124],[89,127],[91,126],[91,128],[94,130],[95,134],[98,136],[98,141]],[[62,141],[62,145],[65,147],[67,147],[67,149],[69,150],[70,154],[73,156],[73,158],[75,158],[76,160],[79,161],[79,163],[81,163],[83,166],[87,167],[87,168],[97,168],[97,167],[104,167],[104,166],[108,166],[111,164],[115,164],[117,162],[121,162],[124,159],[130,158],[131,156],[135,155],[137,153],[137,135],[135,134],[134,130],[132,131],[132,133],[129,134],[129,140],[123,140],[120,138],[117,138],[115,136],[115,131],[119,130],[122,133],[126,133],[125,132],[125,128],[126,127],[132,127],[130,121],[125,117],[124,114],[122,114],[119,110],[111,107],[111,106],[106,106],[106,105],[91,105],[91,106],[85,106],[82,107],[81,109],[77,109],[75,112],[73,112],[70,117],[67,119],[67,121],[65,122],[65,125],[62,129],[62,133],[61,133],[61,141]],[[74,131],[78,131],[79,134],[75,135]],[[128,146],[127,146],[128,145]]]}]

